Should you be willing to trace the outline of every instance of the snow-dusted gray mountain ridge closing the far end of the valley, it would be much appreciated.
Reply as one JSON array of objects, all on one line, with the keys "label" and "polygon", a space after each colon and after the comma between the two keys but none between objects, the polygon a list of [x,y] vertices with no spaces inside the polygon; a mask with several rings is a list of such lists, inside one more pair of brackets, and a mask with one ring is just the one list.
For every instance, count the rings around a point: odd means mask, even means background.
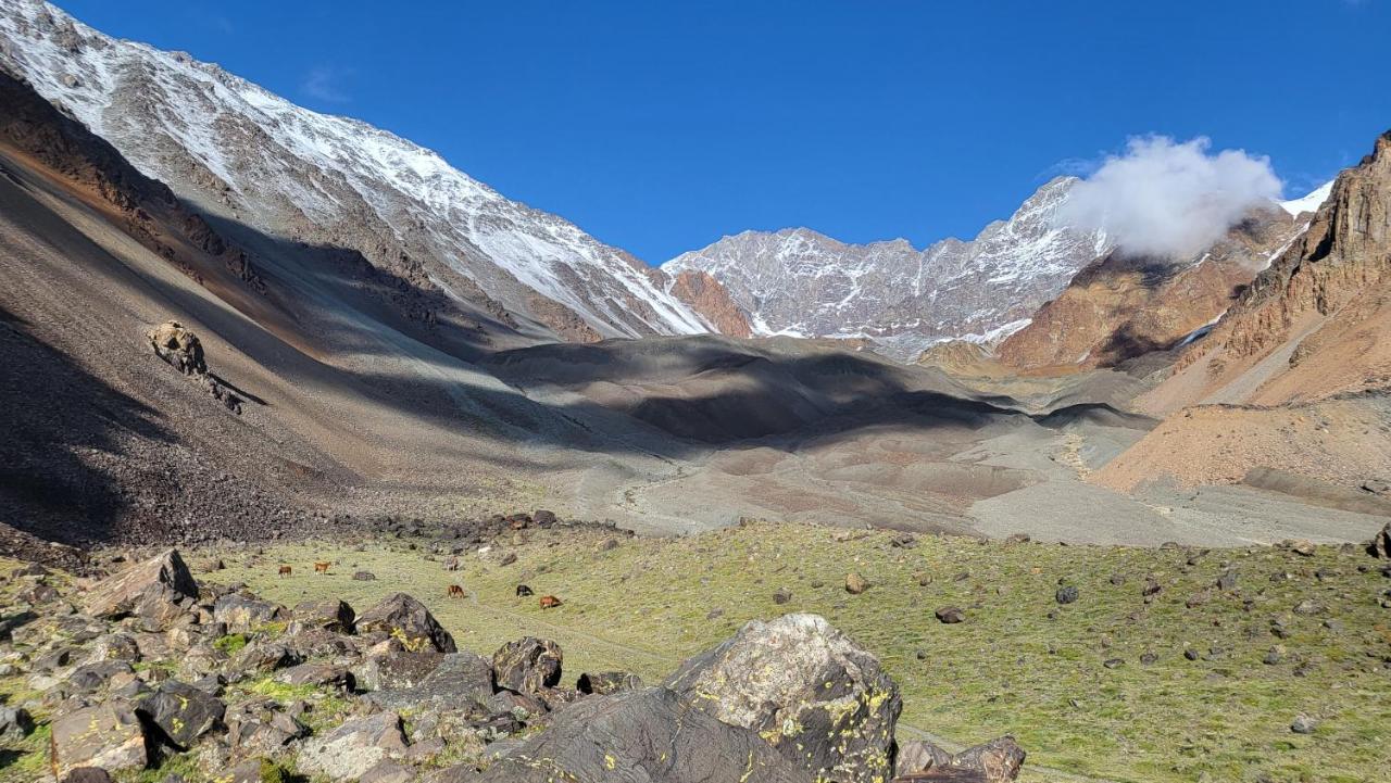
[{"label": "snow-dusted gray mountain ridge closing the far end of the valley", "polygon": [[904,239],[847,245],[807,228],[746,231],[662,270],[715,277],[755,334],[869,337],[900,357],[942,338],[993,341],[1027,324],[1078,270],[1110,250],[1100,231],[1056,225],[1075,182],[1047,182],[1010,220],[970,242],[944,239],[918,250]]}]

